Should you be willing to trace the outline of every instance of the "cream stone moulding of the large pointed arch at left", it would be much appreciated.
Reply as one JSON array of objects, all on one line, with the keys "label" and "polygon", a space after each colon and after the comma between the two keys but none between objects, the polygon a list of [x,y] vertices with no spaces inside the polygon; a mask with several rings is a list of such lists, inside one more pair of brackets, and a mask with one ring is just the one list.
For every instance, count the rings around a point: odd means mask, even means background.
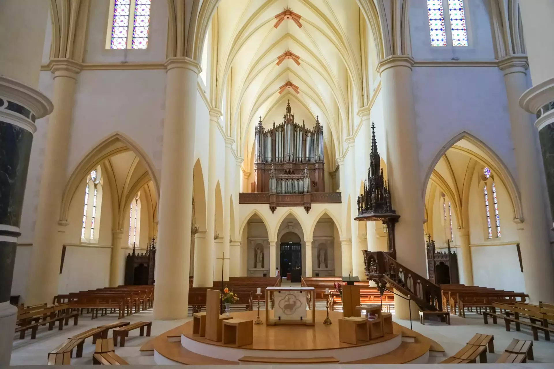
[{"label": "cream stone moulding of the large pointed arch at left", "polygon": [[116,154],[124,153],[127,151],[132,151],[143,160],[145,163],[146,170],[152,179],[154,189],[156,190],[156,195],[158,199],[160,198],[160,185],[156,176],[155,167],[152,163],[152,160],[145,151],[133,141],[126,134],[116,131],[111,133],[109,136],[101,139],[98,144],[94,146],[88,153],[86,153],[83,158],[79,161],[76,167],[73,169],[73,172],[69,176],[68,181],[65,184],[63,195],[61,198],[61,209],[59,220],[67,221],[68,211],[71,199],[75,194],[75,191],[79,187],[79,183],[83,180],[91,170],[94,169],[101,163],[103,160],[106,160]]}]

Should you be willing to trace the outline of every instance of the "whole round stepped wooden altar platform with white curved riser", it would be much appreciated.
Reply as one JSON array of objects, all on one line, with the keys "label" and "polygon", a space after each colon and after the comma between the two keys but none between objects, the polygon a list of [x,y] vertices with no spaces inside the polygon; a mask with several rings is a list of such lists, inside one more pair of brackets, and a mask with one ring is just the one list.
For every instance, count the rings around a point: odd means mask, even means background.
[{"label": "whole round stepped wooden altar platform with white curved riser", "polygon": [[[239,319],[255,320],[256,311],[231,313]],[[261,320],[265,316],[261,314]],[[322,358],[335,357],[341,363],[406,363],[428,360],[430,345],[427,342],[402,342],[401,326],[393,323],[393,333],[358,345],[338,341],[338,319],[341,313],[330,311],[331,325],[324,325],[324,310],[316,310],[313,326],[268,326],[254,325],[253,344],[230,347],[223,342],[209,341],[193,335],[193,323],[189,321],[150,342],[155,349],[158,364],[184,363],[190,365],[230,365],[239,363],[242,357],[259,357],[267,360],[274,357]],[[408,330],[409,331],[409,330]],[[181,341],[172,337],[181,334]],[[169,339],[168,339],[169,338]]]}]

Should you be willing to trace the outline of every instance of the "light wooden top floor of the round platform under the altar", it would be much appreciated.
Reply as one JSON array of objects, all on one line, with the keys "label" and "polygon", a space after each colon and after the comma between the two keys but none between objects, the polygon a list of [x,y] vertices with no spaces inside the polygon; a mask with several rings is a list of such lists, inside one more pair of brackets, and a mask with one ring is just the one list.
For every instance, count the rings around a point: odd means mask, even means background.
[{"label": "light wooden top floor of the round platform under the altar", "polygon": [[[312,326],[302,325],[265,325],[265,316],[260,316],[264,324],[254,325],[254,340],[252,345],[241,346],[241,349],[247,350],[330,350],[341,349],[353,346],[372,345],[378,342],[387,341],[401,334],[397,329],[393,334],[385,334],[384,337],[371,341],[362,341],[359,345],[345,344],[338,341],[338,319],[342,318],[342,313],[329,311],[329,317],[333,324],[325,325],[326,312],[324,310],[315,311],[316,323]],[[241,313],[231,313],[231,316],[237,316],[240,319],[255,320],[256,311],[244,311]],[[264,315],[264,314],[260,314]],[[214,342],[204,337],[192,334],[192,321],[183,325],[183,334],[189,339],[202,342],[204,344],[223,346],[223,342]]]}]

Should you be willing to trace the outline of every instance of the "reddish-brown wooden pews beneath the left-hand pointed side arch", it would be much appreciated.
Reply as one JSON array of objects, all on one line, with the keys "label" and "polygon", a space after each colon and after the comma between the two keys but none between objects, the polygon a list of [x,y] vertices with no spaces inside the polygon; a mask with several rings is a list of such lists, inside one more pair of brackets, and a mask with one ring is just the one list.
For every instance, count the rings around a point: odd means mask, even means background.
[{"label": "reddish-brown wooden pews beneath the left-hand pointed side arch", "polygon": [[68,304],[71,310],[91,311],[91,319],[98,318],[98,312],[106,315],[118,312],[118,319],[141,310],[150,309],[154,304],[153,285],[120,285],[88,291],[60,294],[54,297],[54,305]]}]

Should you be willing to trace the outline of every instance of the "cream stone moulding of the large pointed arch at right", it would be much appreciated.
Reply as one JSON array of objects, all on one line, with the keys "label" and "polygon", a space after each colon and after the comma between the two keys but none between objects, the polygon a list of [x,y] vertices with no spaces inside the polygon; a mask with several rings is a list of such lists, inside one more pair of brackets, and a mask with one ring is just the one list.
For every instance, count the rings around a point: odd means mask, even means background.
[{"label": "cream stone moulding of the large pointed arch at right", "polygon": [[[482,155],[474,152],[471,149],[456,145],[456,143],[464,139],[469,143],[475,145],[475,147],[479,148],[480,150],[483,150],[483,152],[486,155],[488,155],[488,158],[483,157]],[[510,205],[512,207],[512,211],[514,212],[514,221],[515,222],[524,221],[523,210],[521,206],[520,190],[519,190],[519,187],[517,186],[516,180],[512,175],[511,171],[507,168],[504,161],[500,159],[500,157],[494,152],[493,149],[491,149],[488,145],[486,145],[483,141],[481,141],[481,139],[476,137],[474,134],[471,134],[467,131],[463,131],[457,134],[456,136],[454,136],[452,139],[450,139],[450,141],[448,141],[433,158],[431,164],[427,169],[427,172],[425,173],[426,180],[425,180],[425,183],[423,184],[423,192],[422,192],[423,199],[425,199],[425,191],[427,190],[429,178],[431,178],[431,175],[433,173],[435,166],[439,162],[440,158],[442,158],[442,156],[449,149],[453,149],[458,152],[464,153],[468,155],[470,158],[475,159],[477,162],[482,163],[485,167],[489,167],[495,173],[499,174],[500,178],[504,182],[506,189],[510,195],[509,196]]]}]

